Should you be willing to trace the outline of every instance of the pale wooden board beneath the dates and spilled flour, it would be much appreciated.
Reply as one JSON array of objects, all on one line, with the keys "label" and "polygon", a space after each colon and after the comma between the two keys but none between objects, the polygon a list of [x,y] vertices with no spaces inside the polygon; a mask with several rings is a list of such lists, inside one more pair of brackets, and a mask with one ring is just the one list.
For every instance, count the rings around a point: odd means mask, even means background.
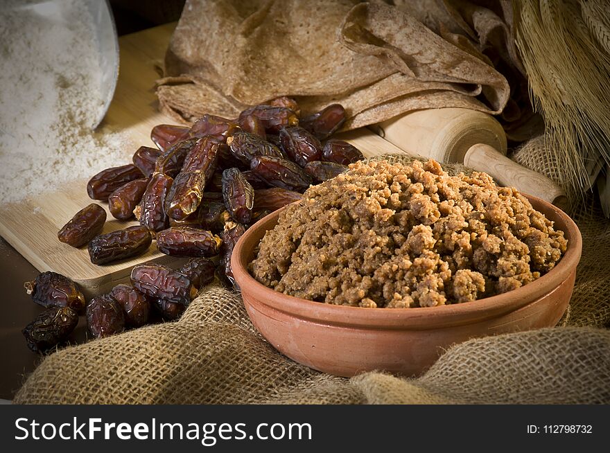
[{"label": "pale wooden board beneath the dates and spilled flour", "polygon": [[[125,157],[116,165],[130,163],[140,145],[154,146],[150,130],[157,124],[175,123],[173,118],[159,112],[155,96],[155,80],[175,24],[166,24],[119,39],[121,67],[119,80],[110,109],[103,125],[123,132],[132,142],[125,146]],[[401,153],[402,150],[369,130],[352,131],[345,139],[354,143],[366,156]],[[155,243],[146,254],[110,265],[93,265],[87,248],[74,249],[59,242],[57,233],[71,217],[92,200],[85,190],[93,175],[71,181],[62,190],[0,207],[0,236],[15,247],[41,272],[58,272],[82,286],[88,297],[108,292],[114,285],[126,281],[134,265],[146,261],[180,265],[183,258],[159,253]],[[107,204],[102,204],[107,210]],[[123,229],[136,222],[119,222],[108,213],[104,233]]]}]

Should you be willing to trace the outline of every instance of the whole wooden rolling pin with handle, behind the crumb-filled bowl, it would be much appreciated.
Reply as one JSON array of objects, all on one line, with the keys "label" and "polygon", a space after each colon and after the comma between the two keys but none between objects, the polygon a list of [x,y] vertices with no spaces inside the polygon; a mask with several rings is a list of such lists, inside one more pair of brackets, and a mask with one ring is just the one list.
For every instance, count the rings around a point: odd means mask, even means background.
[{"label": "whole wooden rolling pin with handle, behind the crumb-filled bowl", "polygon": [[461,108],[419,110],[372,129],[408,154],[463,163],[491,175],[500,186],[515,187],[561,209],[567,206],[561,187],[506,157],[504,130],[491,115]]}]

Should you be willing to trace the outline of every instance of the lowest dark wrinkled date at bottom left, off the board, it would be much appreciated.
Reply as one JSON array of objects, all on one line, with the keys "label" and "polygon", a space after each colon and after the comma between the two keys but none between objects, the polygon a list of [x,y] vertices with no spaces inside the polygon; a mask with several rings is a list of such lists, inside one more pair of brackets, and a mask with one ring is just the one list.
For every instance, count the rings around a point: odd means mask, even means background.
[{"label": "lowest dark wrinkled date at bottom left, off the board", "polygon": [[78,314],[69,307],[51,307],[40,313],[21,333],[28,348],[44,353],[66,340],[78,324]]}]

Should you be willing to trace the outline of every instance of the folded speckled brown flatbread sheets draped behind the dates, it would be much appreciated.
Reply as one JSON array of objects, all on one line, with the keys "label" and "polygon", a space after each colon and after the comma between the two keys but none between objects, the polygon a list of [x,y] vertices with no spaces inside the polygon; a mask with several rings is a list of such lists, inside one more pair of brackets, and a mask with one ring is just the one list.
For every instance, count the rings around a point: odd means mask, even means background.
[{"label": "folded speckled brown flatbread sheets draped behind the dates", "polygon": [[501,114],[520,141],[539,127],[505,0],[189,0],[164,73],[159,103],[182,121],[288,95],[304,114],[341,103],[346,130],[436,107]]}]

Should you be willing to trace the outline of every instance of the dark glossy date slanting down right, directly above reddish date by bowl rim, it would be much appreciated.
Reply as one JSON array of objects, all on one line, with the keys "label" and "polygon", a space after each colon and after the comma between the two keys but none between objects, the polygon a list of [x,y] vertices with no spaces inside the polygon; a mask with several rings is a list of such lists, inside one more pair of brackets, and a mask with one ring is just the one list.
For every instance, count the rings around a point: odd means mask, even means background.
[{"label": "dark glossy date slanting down right, directly above reddish date by bowl rim", "polygon": [[303,192],[311,184],[311,177],[296,163],[277,157],[254,157],[250,170],[271,186]]}]

